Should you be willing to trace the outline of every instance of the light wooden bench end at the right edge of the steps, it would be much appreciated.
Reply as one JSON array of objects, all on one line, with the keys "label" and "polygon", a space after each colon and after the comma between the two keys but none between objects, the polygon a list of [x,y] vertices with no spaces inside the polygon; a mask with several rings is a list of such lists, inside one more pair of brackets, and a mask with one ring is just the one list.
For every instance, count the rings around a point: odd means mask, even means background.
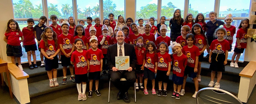
[{"label": "light wooden bench end at the right edge of the steps", "polygon": [[244,69],[239,73],[240,84],[239,84],[239,91],[238,91],[238,98],[242,102],[247,102],[253,87],[256,84],[256,62],[250,61]]}]

